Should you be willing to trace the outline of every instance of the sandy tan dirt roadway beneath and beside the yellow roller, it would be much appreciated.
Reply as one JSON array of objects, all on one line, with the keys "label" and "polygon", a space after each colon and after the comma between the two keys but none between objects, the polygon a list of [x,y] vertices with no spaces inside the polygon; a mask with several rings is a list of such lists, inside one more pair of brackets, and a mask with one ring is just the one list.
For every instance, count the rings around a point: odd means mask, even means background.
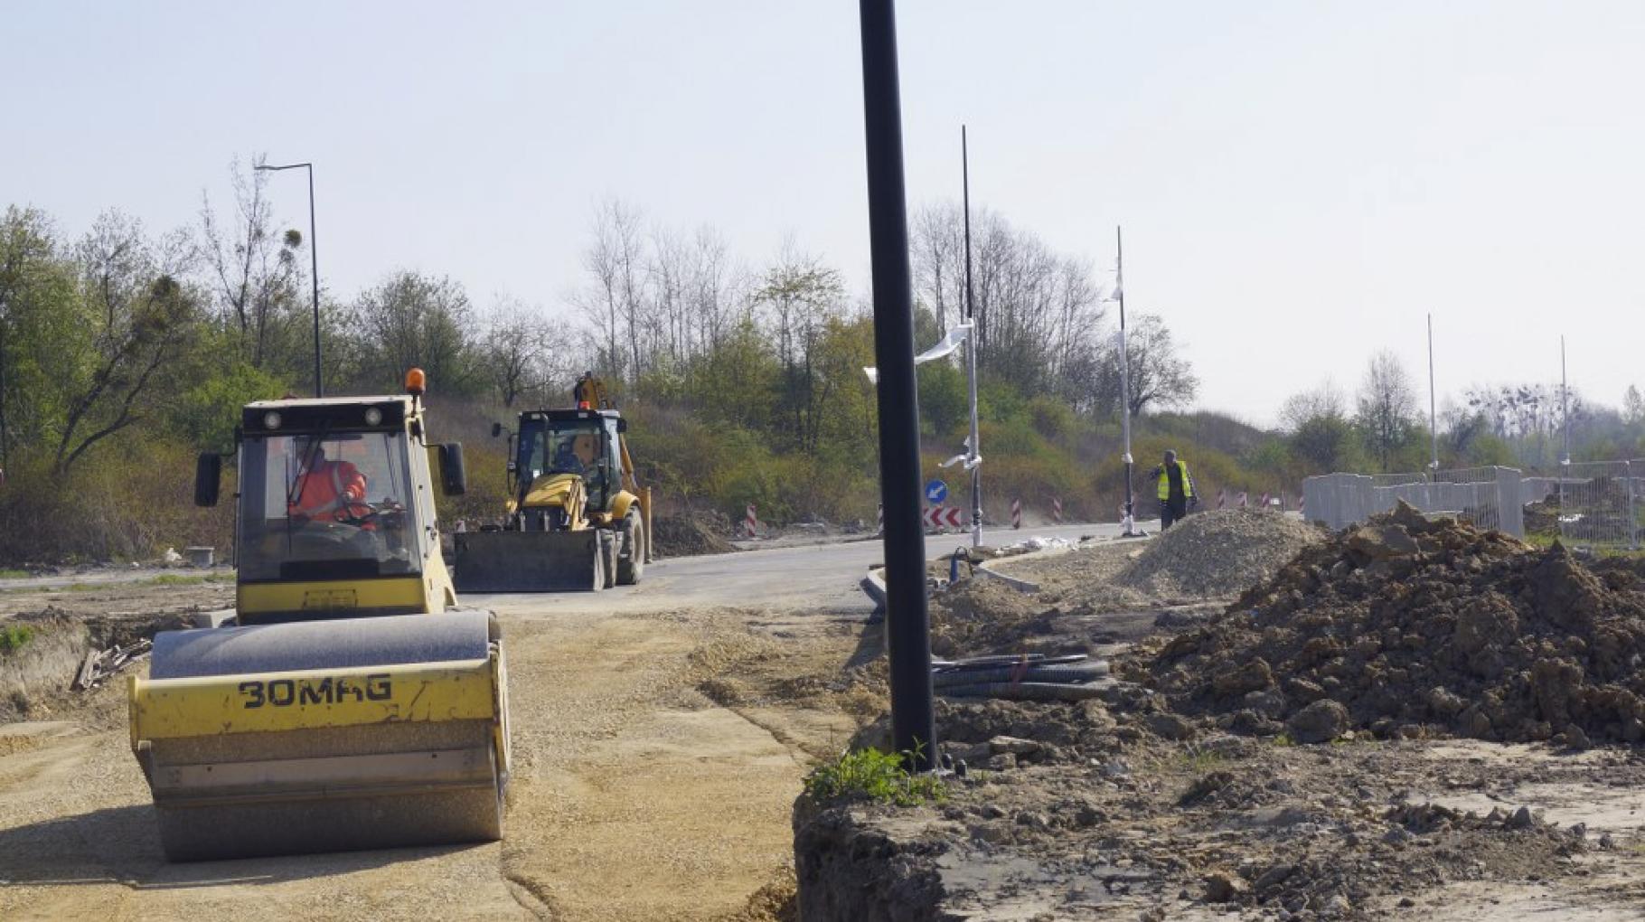
[{"label": "sandy tan dirt roadway beneath and beside the yellow roller", "polygon": [[[635,589],[466,599],[507,639],[502,843],[166,864],[123,687],[0,724],[0,917],[760,919],[750,897],[791,879],[801,777],[857,719],[826,690],[722,706],[697,688],[821,688],[877,634],[854,581],[875,550],[778,591],[788,553],[666,561]],[[107,593],[110,609],[132,603]]]}]

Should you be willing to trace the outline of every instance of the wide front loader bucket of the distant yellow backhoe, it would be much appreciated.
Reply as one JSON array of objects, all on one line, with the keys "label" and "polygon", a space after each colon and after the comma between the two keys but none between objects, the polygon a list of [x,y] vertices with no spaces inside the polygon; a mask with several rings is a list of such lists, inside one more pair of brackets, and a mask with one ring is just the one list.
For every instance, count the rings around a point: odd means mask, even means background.
[{"label": "wide front loader bucket of the distant yellow backhoe", "polygon": [[456,535],[459,593],[563,593],[605,584],[597,529],[577,532],[466,532]]}]

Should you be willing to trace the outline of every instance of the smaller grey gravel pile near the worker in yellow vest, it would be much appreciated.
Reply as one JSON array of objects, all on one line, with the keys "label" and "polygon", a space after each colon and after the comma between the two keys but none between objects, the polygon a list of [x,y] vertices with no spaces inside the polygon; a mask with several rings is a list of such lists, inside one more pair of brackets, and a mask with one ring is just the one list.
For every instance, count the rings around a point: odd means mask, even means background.
[{"label": "smaller grey gravel pile near the worker in yellow vest", "polygon": [[1234,596],[1324,537],[1306,522],[1258,509],[1201,512],[1150,542],[1115,583],[1156,596]]}]

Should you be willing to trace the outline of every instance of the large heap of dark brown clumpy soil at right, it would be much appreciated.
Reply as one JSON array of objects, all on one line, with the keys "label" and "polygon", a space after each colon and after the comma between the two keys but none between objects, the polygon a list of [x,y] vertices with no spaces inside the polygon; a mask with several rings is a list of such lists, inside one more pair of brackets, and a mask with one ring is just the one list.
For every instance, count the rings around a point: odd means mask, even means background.
[{"label": "large heap of dark brown clumpy soil at right", "polygon": [[[1461,734],[1497,741],[1645,739],[1645,594],[1558,543],[1415,509],[1318,545],[1227,614],[1120,670],[1181,713],[1316,743]],[[1133,667],[1133,668],[1132,668]]]}]

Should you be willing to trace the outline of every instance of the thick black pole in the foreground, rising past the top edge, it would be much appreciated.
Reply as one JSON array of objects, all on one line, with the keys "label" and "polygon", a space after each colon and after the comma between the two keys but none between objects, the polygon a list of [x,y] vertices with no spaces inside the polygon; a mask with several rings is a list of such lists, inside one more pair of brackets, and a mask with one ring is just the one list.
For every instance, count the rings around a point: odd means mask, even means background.
[{"label": "thick black pole in the foreground, rising past the top edge", "polygon": [[873,357],[880,380],[880,501],[885,505],[885,640],[892,678],[892,744],[911,771],[934,761],[931,626],[924,535],[920,530],[920,407],[908,273],[908,193],[897,77],[897,10],[860,0],[862,104],[869,165],[869,254],[873,277]]}]

